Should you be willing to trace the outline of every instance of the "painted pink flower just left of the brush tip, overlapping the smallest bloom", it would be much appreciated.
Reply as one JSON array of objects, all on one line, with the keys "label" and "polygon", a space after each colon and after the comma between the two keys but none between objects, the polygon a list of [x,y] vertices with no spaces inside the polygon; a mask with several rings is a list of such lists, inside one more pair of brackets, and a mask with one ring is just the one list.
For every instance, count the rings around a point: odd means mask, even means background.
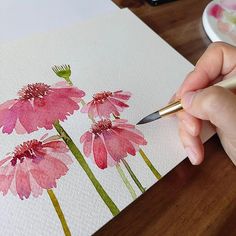
[{"label": "painted pink flower just left of the brush tip, overlapping the smallest bloom", "polygon": [[139,146],[147,144],[143,134],[123,119],[104,119],[94,123],[91,130],[81,136],[80,142],[85,156],[92,155],[101,169],[113,166],[128,154],[135,156]]}]

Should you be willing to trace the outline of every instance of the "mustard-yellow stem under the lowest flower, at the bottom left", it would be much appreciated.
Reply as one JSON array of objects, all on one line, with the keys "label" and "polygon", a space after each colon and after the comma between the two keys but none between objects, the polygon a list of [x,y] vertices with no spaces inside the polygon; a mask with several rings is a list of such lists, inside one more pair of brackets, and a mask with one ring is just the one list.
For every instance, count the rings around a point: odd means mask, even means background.
[{"label": "mustard-yellow stem under the lowest flower, at the bottom left", "polygon": [[61,207],[60,207],[60,204],[57,200],[56,195],[54,194],[54,192],[51,189],[48,189],[47,192],[48,192],[48,195],[51,199],[52,205],[54,206],[54,209],[61,221],[61,225],[62,225],[65,236],[71,236],[71,232],[70,232],[69,227],[66,223],[65,216],[61,210]]}]

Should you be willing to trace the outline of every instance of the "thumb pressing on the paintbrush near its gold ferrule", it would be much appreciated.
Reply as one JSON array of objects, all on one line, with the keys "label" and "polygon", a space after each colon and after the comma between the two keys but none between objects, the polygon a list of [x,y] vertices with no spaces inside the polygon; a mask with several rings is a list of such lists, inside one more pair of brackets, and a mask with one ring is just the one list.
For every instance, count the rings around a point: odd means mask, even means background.
[{"label": "thumb pressing on the paintbrush near its gold ferrule", "polygon": [[236,96],[219,86],[187,92],[181,99],[183,108],[201,120],[209,120],[230,138],[236,137]]}]

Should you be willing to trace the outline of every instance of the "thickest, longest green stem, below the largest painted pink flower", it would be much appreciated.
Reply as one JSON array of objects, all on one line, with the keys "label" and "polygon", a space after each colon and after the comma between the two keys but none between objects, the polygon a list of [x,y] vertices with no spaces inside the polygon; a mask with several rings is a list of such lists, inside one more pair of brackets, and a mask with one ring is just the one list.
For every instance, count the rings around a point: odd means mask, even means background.
[{"label": "thickest, longest green stem, below the largest painted pink flower", "polygon": [[63,138],[64,142],[66,143],[66,145],[68,146],[68,148],[70,149],[72,154],[74,155],[75,159],[79,162],[79,164],[81,165],[81,167],[83,168],[83,170],[87,174],[88,178],[91,180],[93,186],[95,187],[98,194],[100,195],[100,197],[102,198],[104,203],[107,205],[107,207],[111,211],[112,215],[113,216],[117,215],[120,212],[120,210],[117,208],[115,203],[112,201],[112,199],[106,193],[106,191],[104,190],[102,185],[99,183],[99,181],[97,180],[97,178],[93,174],[92,170],[88,166],[83,155],[81,154],[81,152],[79,151],[79,149],[77,148],[77,146],[75,145],[73,140],[66,133],[66,131],[63,129],[63,127],[60,125],[60,123],[58,121],[54,123],[54,127],[57,130],[57,132],[59,133],[59,135],[61,135],[61,137]]}]

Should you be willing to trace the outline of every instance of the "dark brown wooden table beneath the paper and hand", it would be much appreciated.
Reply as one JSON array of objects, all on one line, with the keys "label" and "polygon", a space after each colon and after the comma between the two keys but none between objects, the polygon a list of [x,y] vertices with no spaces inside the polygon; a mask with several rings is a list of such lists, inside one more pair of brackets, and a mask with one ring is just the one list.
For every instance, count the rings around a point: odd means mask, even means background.
[{"label": "dark brown wooden table beneath the paper and hand", "polygon": [[[139,0],[114,0],[129,7],[151,29],[195,64],[210,44],[201,23],[209,0],[179,0],[151,7]],[[215,135],[205,161],[183,161],[96,235],[236,235],[236,168]]]}]

